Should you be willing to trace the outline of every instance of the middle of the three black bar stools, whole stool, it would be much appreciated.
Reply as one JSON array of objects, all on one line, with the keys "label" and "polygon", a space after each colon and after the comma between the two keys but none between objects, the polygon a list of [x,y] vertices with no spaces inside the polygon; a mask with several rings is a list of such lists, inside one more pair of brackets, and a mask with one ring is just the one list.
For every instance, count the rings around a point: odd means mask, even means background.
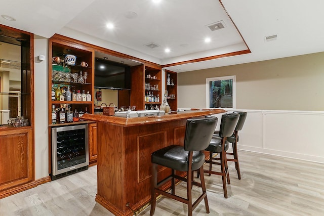
[{"label": "middle of the three black bar stools, whole stool", "polygon": [[[206,151],[210,152],[210,158],[209,160],[205,160],[206,163],[209,163],[209,170],[204,170],[204,172],[208,173],[209,175],[215,174],[222,176],[225,198],[227,198],[226,179],[227,183],[230,184],[226,159],[226,151],[229,148],[229,142],[226,139],[233,134],[238,118],[239,114],[237,113],[226,113],[222,115],[219,137],[213,136],[209,146],[206,148]],[[220,162],[213,161],[217,160],[216,158],[213,158],[213,153],[220,154]],[[212,164],[220,165],[221,172],[213,171]]]}]

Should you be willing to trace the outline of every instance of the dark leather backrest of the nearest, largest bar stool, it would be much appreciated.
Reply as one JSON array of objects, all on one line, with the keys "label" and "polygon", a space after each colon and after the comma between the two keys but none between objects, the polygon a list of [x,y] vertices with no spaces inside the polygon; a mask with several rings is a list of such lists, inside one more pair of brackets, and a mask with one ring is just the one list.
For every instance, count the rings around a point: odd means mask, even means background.
[{"label": "dark leather backrest of the nearest, largest bar stool", "polygon": [[188,119],[184,140],[184,150],[205,150],[213,137],[218,118],[208,116],[206,118]]}]

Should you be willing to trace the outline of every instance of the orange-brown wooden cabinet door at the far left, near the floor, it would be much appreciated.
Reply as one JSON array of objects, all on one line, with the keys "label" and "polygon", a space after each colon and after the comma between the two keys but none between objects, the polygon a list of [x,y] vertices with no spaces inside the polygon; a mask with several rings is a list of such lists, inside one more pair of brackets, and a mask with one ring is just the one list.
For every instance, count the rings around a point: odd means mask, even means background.
[{"label": "orange-brown wooden cabinet door at the far left, near the floor", "polygon": [[0,131],[0,198],[2,191],[33,181],[32,129]]}]

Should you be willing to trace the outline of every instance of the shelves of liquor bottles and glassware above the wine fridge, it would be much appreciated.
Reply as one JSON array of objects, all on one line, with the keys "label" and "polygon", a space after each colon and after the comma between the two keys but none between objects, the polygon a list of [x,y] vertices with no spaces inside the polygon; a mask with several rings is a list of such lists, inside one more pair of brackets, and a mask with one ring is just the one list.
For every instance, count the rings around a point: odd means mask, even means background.
[{"label": "shelves of liquor bottles and glassware above the wine fridge", "polygon": [[65,39],[49,40],[49,126],[76,123],[94,109],[94,51]]}]

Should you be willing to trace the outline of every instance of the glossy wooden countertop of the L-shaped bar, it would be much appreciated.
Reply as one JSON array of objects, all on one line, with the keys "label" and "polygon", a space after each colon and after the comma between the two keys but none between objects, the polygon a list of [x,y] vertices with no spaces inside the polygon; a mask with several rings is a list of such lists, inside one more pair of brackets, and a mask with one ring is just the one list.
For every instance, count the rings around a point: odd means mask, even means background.
[{"label": "glossy wooden countertop of the L-shaped bar", "polygon": [[226,112],[223,109],[191,109],[177,112],[176,114],[161,115],[161,116],[145,116],[145,117],[116,117],[108,115],[95,115],[86,113],[82,118],[91,121],[106,122],[115,125],[134,126],[141,124],[152,124],[156,122],[167,122],[179,119],[188,119],[204,115],[213,115]]}]

